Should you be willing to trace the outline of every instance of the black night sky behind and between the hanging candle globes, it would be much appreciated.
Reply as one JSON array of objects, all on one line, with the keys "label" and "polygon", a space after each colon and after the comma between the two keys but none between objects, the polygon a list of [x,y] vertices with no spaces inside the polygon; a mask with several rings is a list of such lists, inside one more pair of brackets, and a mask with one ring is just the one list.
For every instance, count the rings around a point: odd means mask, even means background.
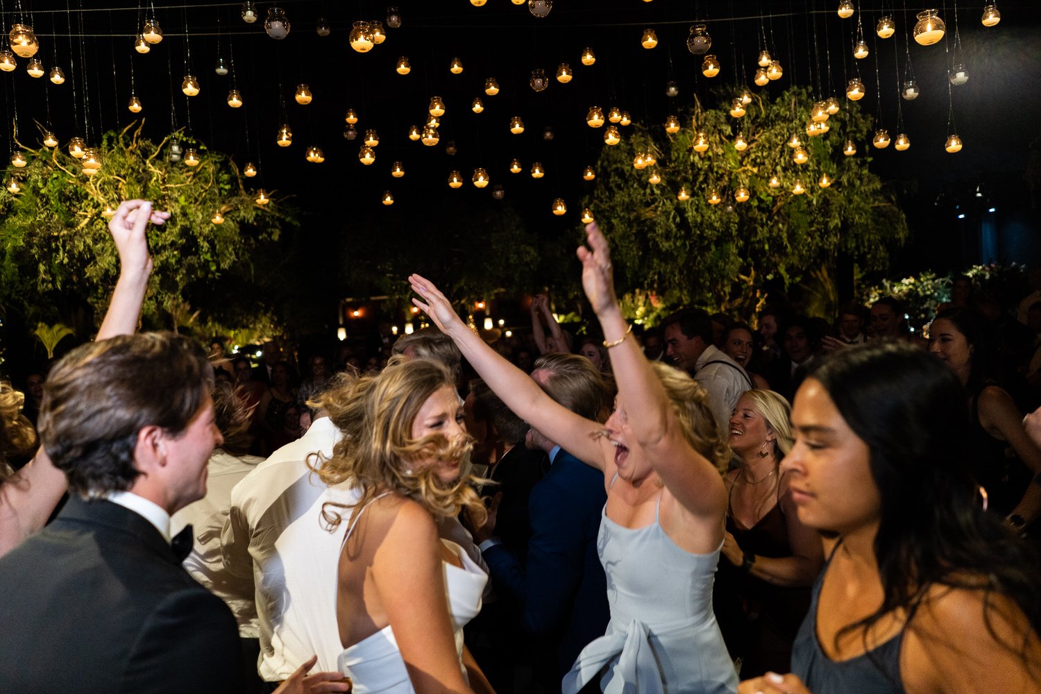
[{"label": "black night sky behind and between the hanging candle globes", "polygon": [[[559,233],[574,227],[575,220],[550,214],[552,199],[562,196],[574,201],[574,216],[578,216],[578,198],[590,185],[581,180],[581,170],[595,161],[603,147],[603,131],[585,125],[589,106],[598,104],[606,109],[617,104],[637,121],[660,124],[669,112],[688,106],[693,95],[703,103],[713,102],[711,91],[715,87],[736,81],[751,86],[761,33],[785,67],[785,76],[771,82],[768,92],[779,93],[792,83],[809,84],[812,76],[815,81],[823,77],[826,92],[841,95],[846,73],[853,70],[849,46],[857,26],[857,16],[849,20],[837,17],[837,0],[557,0],[542,20],[533,18],[526,5],[515,6],[509,0],[488,0],[483,7],[474,7],[466,0],[399,0],[402,27],[386,28],[387,40],[382,45],[359,54],[348,45],[351,23],[384,19],[386,1],[283,3],[293,28],[280,42],[265,35],[261,26],[272,3],[257,3],[261,21],[250,25],[239,18],[239,3],[184,9],[161,2],[155,12],[166,40],[149,54],[138,55],[131,48],[139,17],[137,3],[69,1],[72,12],[66,11],[65,1],[23,0],[25,9],[32,12],[45,66],[50,68],[56,61],[70,76],[62,86],[50,84],[46,77],[32,79],[24,71],[24,60],[17,72],[0,74],[6,122],[10,123],[17,112],[23,142],[35,142],[32,120],[46,121],[48,106],[62,144],[77,129],[77,122],[80,134],[96,136],[139,117],[147,119],[146,133],[158,139],[170,130],[173,107],[178,126],[187,126],[191,118],[193,134],[209,147],[231,153],[239,165],[257,161],[261,168],[261,176],[253,179],[257,186],[296,196],[295,204],[310,214],[316,227],[330,233],[342,231],[345,206],[365,215],[378,214],[384,189],[393,191],[400,207],[423,209],[431,196],[450,195],[457,196],[459,204],[492,204],[491,187],[478,190],[467,183],[460,190],[450,190],[446,185],[450,171],[459,170],[468,179],[479,165],[489,171],[493,183],[506,186],[508,200],[529,226],[537,225],[541,233]],[[5,25],[10,24],[12,4],[14,0],[4,2]],[[920,7],[905,9],[904,2],[893,1],[857,4],[863,11],[868,44],[879,58],[883,123],[895,135],[894,60],[903,71],[904,32],[910,30],[913,15]],[[980,23],[982,4],[958,6],[964,62],[970,72],[969,82],[955,87],[958,131],[965,149],[949,155],[942,147],[948,109],[945,43],[921,47],[911,42],[921,96],[903,105],[913,145],[905,153],[892,148],[879,152],[872,162],[884,177],[916,186],[918,194],[907,200],[917,209],[909,209],[909,214],[919,240],[926,240],[926,249],[931,247],[929,235],[947,233],[950,225],[949,210],[922,214],[922,207],[935,202],[940,192],[945,191],[944,201],[954,201],[982,181],[995,197],[1006,190],[1010,205],[1025,209],[1027,204],[1021,172],[1027,146],[1037,138],[1041,122],[1041,97],[1033,85],[1041,68],[1041,24],[1036,3],[1001,0],[1001,23],[985,28]],[[895,6],[892,14],[897,23],[896,36],[887,41],[877,40],[873,31],[883,5],[890,10]],[[949,0],[941,3],[941,15],[947,22],[946,46],[951,47],[955,8]],[[760,20],[760,16],[767,17]],[[329,36],[316,34],[319,17],[329,20]],[[719,76],[711,80],[701,75],[702,58],[685,47],[694,20],[708,23],[714,41],[711,52],[722,62]],[[654,50],[639,45],[644,27],[657,31],[660,43]],[[70,37],[70,33],[75,35]],[[187,46],[192,71],[202,83],[202,93],[193,99],[179,89]],[[591,68],[579,59],[586,46],[598,56]],[[213,73],[218,55],[230,59],[232,51],[235,86],[246,104],[239,109],[225,104],[232,76]],[[393,70],[401,55],[407,55],[412,66],[407,76]],[[461,75],[449,72],[455,56],[463,61]],[[739,67],[735,80],[735,57],[746,79]],[[528,86],[532,69],[544,69],[552,77],[562,61],[575,72],[569,84],[551,79],[542,93]],[[131,62],[135,89],[145,105],[138,117],[126,109]],[[829,62],[831,80],[827,82]],[[869,95],[861,105],[875,111],[875,55],[858,61],[858,68]],[[502,87],[498,96],[483,94],[483,81],[489,76]],[[676,99],[664,93],[669,78],[680,87]],[[300,106],[293,100],[295,85],[300,82],[308,83],[314,94],[310,105]],[[280,94],[285,100],[284,115]],[[441,143],[426,148],[409,142],[406,133],[410,125],[422,125],[434,95],[445,99],[448,112],[440,128]],[[481,114],[471,111],[475,96],[484,100],[486,108]],[[353,143],[344,139],[344,114],[349,106],[361,118],[359,133],[376,128],[380,134],[377,161],[372,166],[357,161],[360,137]],[[514,114],[522,115],[527,126],[519,136],[508,130]],[[294,144],[284,149],[275,146],[275,133],[283,120],[294,130]],[[552,142],[542,137],[545,127],[554,130]],[[458,147],[454,157],[446,153],[449,140]],[[3,148],[7,144],[4,137]],[[324,149],[325,163],[305,162],[304,151],[312,144]],[[862,146],[862,151],[866,150]],[[548,171],[545,178],[534,181],[526,174],[509,174],[506,169],[514,156],[525,166],[532,160],[541,161]],[[405,163],[407,174],[402,179],[389,175],[395,160]]]}]

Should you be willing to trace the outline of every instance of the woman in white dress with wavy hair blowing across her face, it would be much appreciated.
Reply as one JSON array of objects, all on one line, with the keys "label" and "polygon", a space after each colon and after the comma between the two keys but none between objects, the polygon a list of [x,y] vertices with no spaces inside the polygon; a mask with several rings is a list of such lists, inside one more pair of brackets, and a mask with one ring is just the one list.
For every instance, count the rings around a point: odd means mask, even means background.
[{"label": "woman in white dress with wavy hair blowing across her face", "polygon": [[[327,504],[347,524],[336,586],[340,670],[355,694],[487,691],[462,644],[487,575],[437,520],[484,506],[459,466],[472,443],[462,401],[440,365],[416,360],[357,379],[326,400],[344,437],[318,473],[353,481],[359,500]],[[473,688],[473,689],[472,689]]]}]

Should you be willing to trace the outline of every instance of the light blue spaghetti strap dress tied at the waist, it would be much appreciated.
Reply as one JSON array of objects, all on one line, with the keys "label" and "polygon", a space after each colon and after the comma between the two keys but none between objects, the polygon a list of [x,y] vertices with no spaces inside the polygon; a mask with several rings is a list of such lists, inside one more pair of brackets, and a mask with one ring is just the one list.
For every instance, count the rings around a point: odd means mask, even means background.
[{"label": "light blue spaghetti strap dress tied at the waist", "polygon": [[[613,484],[613,481],[612,481]],[[737,673],[712,612],[719,548],[681,549],[659,522],[630,529],[602,513],[598,551],[611,620],[564,675],[563,694],[600,677],[607,694],[727,694]]]}]

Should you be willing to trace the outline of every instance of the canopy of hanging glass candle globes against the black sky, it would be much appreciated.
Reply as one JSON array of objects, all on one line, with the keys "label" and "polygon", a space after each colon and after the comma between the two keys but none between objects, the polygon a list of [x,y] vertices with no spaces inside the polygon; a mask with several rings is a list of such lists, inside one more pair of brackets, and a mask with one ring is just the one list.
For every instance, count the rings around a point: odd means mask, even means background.
[{"label": "canopy of hanging glass candle globes against the black sky", "polygon": [[938,4],[0,0],[0,150],[11,192],[25,148],[103,175],[102,133],[144,119],[170,165],[227,153],[260,204],[480,195],[562,214],[633,124],[667,138],[695,99],[736,122],[797,84],[806,135],[859,101],[878,128],[847,154],[971,177],[1021,156],[1001,122],[1036,123],[1010,94],[1038,67],[1037,12]]}]

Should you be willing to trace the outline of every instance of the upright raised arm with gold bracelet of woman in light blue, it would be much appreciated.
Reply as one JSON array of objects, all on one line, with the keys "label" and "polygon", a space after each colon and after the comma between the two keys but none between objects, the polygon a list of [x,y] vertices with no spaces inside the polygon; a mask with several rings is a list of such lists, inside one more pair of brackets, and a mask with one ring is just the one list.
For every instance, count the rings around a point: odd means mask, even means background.
[{"label": "upright raised arm with gold bracelet of woman in light blue", "polygon": [[588,247],[578,249],[582,286],[610,345],[611,367],[633,436],[669,493],[700,517],[722,514],[726,492],[715,466],[694,451],[672,412],[672,404],[635,339],[629,337],[614,293],[611,255],[595,224],[586,225]]}]

